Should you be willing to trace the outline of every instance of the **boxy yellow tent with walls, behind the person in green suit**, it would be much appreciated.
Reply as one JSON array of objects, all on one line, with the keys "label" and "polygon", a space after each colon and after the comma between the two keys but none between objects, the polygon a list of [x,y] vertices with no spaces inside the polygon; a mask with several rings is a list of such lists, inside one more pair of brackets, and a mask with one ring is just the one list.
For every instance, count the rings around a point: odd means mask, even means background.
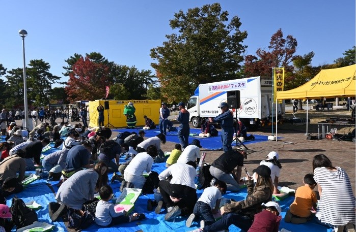
[{"label": "boxy yellow tent with walls, behind the person in green suit", "polygon": [[[89,126],[98,126],[99,114],[97,107],[99,105],[104,106],[105,100],[96,100],[89,102],[89,117],[90,123]],[[129,101],[107,101],[109,103],[109,109],[104,110],[104,125],[106,126],[109,122],[114,127],[126,127],[126,116],[124,115],[124,106],[129,102],[133,103],[133,106],[136,109],[135,116],[137,119],[137,126],[144,126],[145,119],[144,115],[151,118],[152,121],[158,124],[159,119],[159,108],[161,107],[160,100],[129,100]],[[108,113],[108,117],[107,117]],[[109,118],[109,121],[107,120]],[[111,127],[111,126],[108,126]]]}]

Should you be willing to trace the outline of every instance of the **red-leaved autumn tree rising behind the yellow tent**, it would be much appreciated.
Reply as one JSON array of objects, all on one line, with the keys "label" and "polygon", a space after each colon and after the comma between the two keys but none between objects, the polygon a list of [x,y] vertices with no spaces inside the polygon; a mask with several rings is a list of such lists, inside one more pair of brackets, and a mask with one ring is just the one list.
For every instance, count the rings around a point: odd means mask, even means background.
[{"label": "red-leaved autumn tree rising behind the yellow tent", "polygon": [[109,68],[92,61],[88,56],[80,57],[73,65],[65,90],[69,101],[94,101],[105,97],[105,86],[109,83]]}]

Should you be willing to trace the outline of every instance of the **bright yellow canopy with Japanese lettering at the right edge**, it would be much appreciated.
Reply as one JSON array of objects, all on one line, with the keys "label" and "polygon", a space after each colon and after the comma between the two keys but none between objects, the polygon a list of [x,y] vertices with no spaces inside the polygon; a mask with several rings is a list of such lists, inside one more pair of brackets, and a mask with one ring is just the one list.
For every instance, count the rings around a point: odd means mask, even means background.
[{"label": "bright yellow canopy with Japanese lettering at the right edge", "polygon": [[355,96],[355,70],[356,64],[321,70],[304,85],[287,91],[277,91],[277,99]]}]

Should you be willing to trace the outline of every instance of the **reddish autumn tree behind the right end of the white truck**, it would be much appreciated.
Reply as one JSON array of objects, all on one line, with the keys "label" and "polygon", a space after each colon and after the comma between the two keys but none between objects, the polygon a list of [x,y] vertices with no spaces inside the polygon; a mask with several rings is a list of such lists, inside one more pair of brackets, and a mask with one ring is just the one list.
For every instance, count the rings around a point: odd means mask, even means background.
[{"label": "reddish autumn tree behind the right end of the white truck", "polygon": [[285,67],[286,73],[292,72],[293,66],[290,63],[297,45],[296,39],[290,35],[284,39],[282,29],[277,30],[271,37],[268,50],[259,48],[256,51],[258,57],[255,55],[245,57],[245,76],[271,76],[272,67]]}]

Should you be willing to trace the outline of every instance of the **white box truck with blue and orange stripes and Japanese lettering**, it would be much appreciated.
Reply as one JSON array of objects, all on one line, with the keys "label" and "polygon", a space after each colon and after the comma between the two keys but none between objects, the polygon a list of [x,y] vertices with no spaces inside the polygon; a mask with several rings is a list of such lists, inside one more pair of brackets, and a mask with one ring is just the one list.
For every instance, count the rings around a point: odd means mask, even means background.
[{"label": "white box truck with blue and orange stripes and Japanese lettering", "polygon": [[[201,119],[221,114],[218,108],[221,102],[227,102],[228,91],[240,91],[240,108],[230,109],[234,117],[246,126],[255,127],[261,119],[276,116],[276,104],[272,104],[272,78],[250,77],[229,81],[201,84],[189,98],[186,109],[190,113],[190,122],[199,127]],[[273,109],[273,115],[272,115]],[[285,103],[278,104],[279,115],[285,114]]]}]

